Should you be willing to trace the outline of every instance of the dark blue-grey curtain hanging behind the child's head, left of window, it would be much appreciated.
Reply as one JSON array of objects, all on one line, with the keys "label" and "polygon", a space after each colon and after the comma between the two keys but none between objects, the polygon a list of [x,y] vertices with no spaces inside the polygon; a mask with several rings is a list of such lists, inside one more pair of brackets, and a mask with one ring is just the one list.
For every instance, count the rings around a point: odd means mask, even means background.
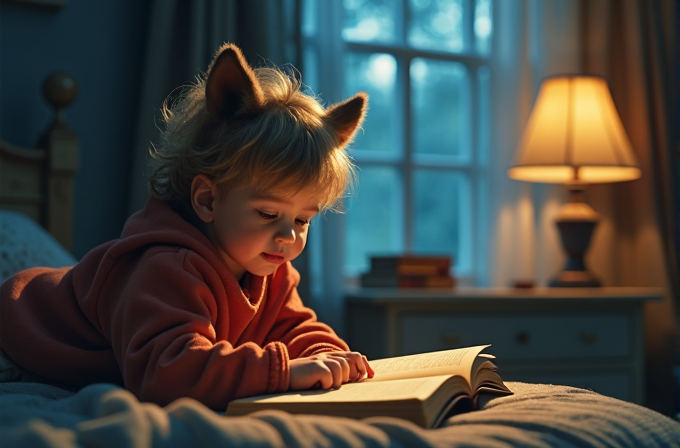
[{"label": "dark blue-grey curtain hanging behind the child's head, left of window", "polygon": [[253,66],[299,63],[299,0],[152,0],[131,168],[129,213],[148,198],[148,151],[158,138],[160,108],[205,72],[225,42]]}]

